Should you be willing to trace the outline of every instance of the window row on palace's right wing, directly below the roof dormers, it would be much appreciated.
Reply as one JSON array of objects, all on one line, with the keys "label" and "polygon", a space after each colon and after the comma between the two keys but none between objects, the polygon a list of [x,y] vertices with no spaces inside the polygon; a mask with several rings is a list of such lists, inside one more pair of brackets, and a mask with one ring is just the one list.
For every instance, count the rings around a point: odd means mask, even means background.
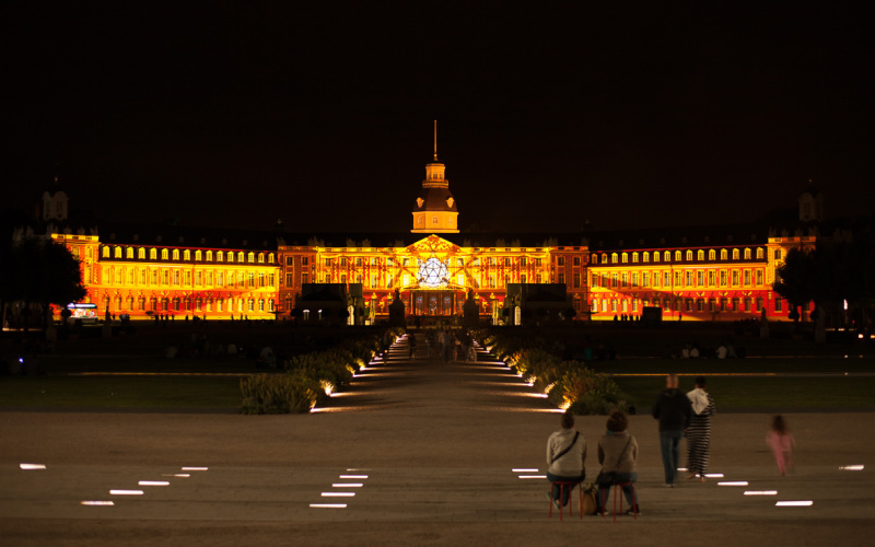
[{"label": "window row on palace's right wing, directly below the roof dormers", "polygon": [[[673,276],[674,274],[674,276]],[[575,288],[579,287],[575,276]],[[561,278],[560,274],[560,278]],[[615,271],[611,274],[593,274],[590,277],[593,288],[670,288],[670,287],[748,287],[762,286],[763,270],[685,270],[685,271]],[[560,283],[563,281],[559,281]]]}]

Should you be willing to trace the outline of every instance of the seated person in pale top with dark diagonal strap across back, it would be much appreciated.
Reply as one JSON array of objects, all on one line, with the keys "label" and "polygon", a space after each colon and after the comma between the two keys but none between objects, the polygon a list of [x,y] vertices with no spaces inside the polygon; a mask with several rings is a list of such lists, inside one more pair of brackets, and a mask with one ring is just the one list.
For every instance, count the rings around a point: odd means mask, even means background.
[{"label": "seated person in pale top with dark diagonal strap across back", "polygon": [[[574,429],[574,415],[564,412],[560,420],[562,429],[547,439],[547,480],[565,482],[583,482],[586,478],[586,438]],[[561,492],[560,492],[561,490]],[[568,505],[570,488],[556,485],[548,496],[557,509]],[[560,499],[561,498],[561,499]]]}]

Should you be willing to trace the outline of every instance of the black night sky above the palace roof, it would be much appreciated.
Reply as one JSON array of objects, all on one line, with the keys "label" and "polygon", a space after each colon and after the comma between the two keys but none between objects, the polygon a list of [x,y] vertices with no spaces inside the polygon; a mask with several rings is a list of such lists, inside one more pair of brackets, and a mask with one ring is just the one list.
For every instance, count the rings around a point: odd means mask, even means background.
[{"label": "black night sky above the palace roof", "polygon": [[110,221],[405,231],[436,118],[463,231],[747,222],[808,178],[873,212],[871,22],[832,3],[73,3],[2,8],[0,209],[57,173]]}]

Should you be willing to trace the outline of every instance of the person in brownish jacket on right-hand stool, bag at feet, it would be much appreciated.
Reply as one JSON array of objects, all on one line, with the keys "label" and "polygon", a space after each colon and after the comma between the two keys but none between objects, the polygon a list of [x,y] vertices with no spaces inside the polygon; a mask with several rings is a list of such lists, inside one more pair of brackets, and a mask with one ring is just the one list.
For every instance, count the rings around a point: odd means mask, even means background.
[{"label": "person in brownish jacket on right-hand stool, bag at feet", "polygon": [[[638,441],[626,431],[629,418],[626,412],[614,412],[608,417],[608,430],[598,440],[598,463],[602,472],[596,478],[598,485],[598,512],[605,510],[610,487],[615,484],[635,482],[635,461],[638,459]],[[621,486],[626,501],[629,502],[627,514],[641,514],[641,507],[632,485]]]}]

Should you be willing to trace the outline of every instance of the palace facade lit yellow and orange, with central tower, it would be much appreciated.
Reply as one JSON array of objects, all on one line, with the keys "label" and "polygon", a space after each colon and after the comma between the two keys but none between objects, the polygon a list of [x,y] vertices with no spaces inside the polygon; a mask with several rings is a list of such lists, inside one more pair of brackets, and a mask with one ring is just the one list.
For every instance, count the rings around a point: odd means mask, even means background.
[{"label": "palace facade lit yellow and orange, with central tower", "polygon": [[[751,225],[638,232],[474,234],[459,232],[458,208],[438,161],[401,234],[290,234],[163,226],[118,226],[101,234],[55,233],[82,260],[88,301],[100,314],[300,317],[314,283],[347,289],[363,322],[388,317],[397,295],[408,316],[453,316],[470,294],[482,318],[504,313],[509,286],[558,283],[576,321],[637,317],[786,319],[772,291],[792,247],[813,247],[821,196],[800,197],[800,222],[775,231]],[[337,286],[335,286],[337,287]],[[354,295],[354,298],[353,298]],[[358,302],[353,302],[358,299]],[[307,317],[312,317],[307,315]],[[180,317],[179,317],[180,318]],[[350,322],[352,319],[349,319]]]}]

